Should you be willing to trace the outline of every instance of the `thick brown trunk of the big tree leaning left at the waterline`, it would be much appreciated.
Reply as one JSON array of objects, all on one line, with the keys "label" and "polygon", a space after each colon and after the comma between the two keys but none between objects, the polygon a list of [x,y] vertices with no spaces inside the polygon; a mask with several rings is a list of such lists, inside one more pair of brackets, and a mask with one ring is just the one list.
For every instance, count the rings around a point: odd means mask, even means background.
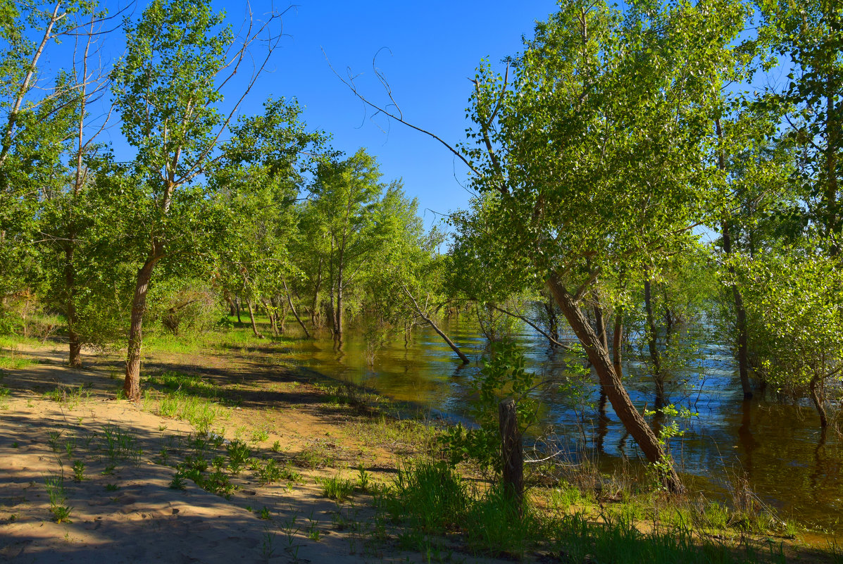
[{"label": "thick brown trunk of the big tree leaning left at the waterline", "polygon": [[[600,342],[599,336],[586,320],[573,296],[568,293],[555,273],[548,278],[547,283],[556,298],[556,302],[559,303],[562,314],[565,315],[565,319],[571,325],[577,339],[583,344],[588,360],[592,363],[600,384],[603,385],[606,396],[609,398],[609,403],[612,404],[620,422],[624,424],[632,438],[635,438],[647,460],[657,464],[667,463],[663,469],[662,481],[668,491],[685,491],[685,486],[679,480],[679,475],[676,474],[676,470],[674,470],[670,459],[664,452],[662,444],[658,442],[655,433],[647,425],[642,414],[636,410],[629,394],[626,393],[626,388],[620,378],[620,370],[613,366],[612,359],[609,358],[609,351]],[[616,325],[620,325],[620,323],[616,322]],[[619,333],[620,329],[621,327],[618,327]],[[615,341],[618,341],[617,337],[615,337]],[[620,353],[620,348],[618,348],[618,352]],[[617,355],[616,359],[619,360],[619,357],[620,354]]]}]

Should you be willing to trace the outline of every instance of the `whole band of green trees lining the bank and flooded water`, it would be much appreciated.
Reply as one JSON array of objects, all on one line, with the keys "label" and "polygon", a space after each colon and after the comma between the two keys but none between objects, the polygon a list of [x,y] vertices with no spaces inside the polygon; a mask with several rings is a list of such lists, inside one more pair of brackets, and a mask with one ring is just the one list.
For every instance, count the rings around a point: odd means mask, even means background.
[{"label": "whole band of green trees lining the bank and flooded water", "polygon": [[[717,331],[744,399],[772,389],[835,421],[839,3],[561,3],[522,52],[478,68],[473,125],[452,148],[476,196],[448,236],[295,100],[234,119],[280,16],[237,36],[207,2],[153,2],[121,28],[99,10],[4,4],[0,331],[56,332],[72,366],[85,345],[121,346],[137,399],[144,327],[207,330],[228,311],[262,337],[260,311],[276,336],[376,343],[429,324],[467,363],[443,315],[472,315],[490,341],[526,323],[576,344],[673,490],[625,355],[645,360],[663,409],[690,332]],[[126,51],[103,67],[115,34]],[[53,51],[67,66],[41,76]],[[238,74],[246,58],[257,72]],[[749,86],[782,68],[783,83]]]}]

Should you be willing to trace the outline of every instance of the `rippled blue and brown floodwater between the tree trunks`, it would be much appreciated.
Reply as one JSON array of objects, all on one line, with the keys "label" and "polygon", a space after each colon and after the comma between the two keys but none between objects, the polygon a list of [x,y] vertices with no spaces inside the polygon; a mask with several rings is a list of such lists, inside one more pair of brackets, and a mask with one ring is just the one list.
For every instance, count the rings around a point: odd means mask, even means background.
[{"label": "rippled blue and brown floodwater between the tree trunks", "polygon": [[[486,340],[476,326],[454,321],[447,331],[472,359],[459,358],[431,329],[416,330],[411,341],[391,342],[377,353],[373,367],[359,332],[349,330],[341,351],[328,338],[295,341],[294,362],[335,379],[361,384],[380,395],[419,406],[434,415],[467,420],[470,381],[486,354]],[[565,373],[565,356],[547,346],[532,331],[517,337],[529,369],[544,377]],[[823,440],[819,418],[808,406],[781,405],[775,400],[744,401],[733,358],[715,342],[701,345],[699,360],[675,374],[669,400],[698,416],[680,422],[683,437],[671,441],[679,469],[694,487],[728,499],[735,477],[746,477],[760,499],[783,517],[831,534],[843,533],[843,452],[835,433]],[[627,366],[627,384],[639,409],[652,406],[652,381],[636,363]],[[599,417],[599,389],[586,386],[586,397],[572,400],[556,389],[540,393],[544,422],[552,425],[559,443],[579,456],[597,459],[610,469],[624,459],[640,459],[634,441],[606,406]]]}]

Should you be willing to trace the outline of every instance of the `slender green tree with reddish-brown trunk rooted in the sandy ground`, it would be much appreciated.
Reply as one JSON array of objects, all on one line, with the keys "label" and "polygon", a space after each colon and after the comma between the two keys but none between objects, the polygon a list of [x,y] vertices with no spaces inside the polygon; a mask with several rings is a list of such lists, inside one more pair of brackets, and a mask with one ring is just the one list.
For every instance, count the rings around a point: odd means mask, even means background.
[{"label": "slender green tree with reddish-brown trunk rooted in the sandy ground", "polygon": [[[132,221],[140,265],[126,352],[127,398],[140,397],[143,314],[155,266],[201,256],[233,220],[197,179],[221,157],[218,142],[262,66],[240,84],[241,95],[228,114],[220,110],[223,88],[271,21],[235,43],[223,15],[213,13],[209,2],[153,0],[137,23],[126,25],[126,55],[111,78],[123,135],[137,149],[135,177],[141,180],[125,190],[136,204]],[[267,59],[275,44],[270,38]]]}]

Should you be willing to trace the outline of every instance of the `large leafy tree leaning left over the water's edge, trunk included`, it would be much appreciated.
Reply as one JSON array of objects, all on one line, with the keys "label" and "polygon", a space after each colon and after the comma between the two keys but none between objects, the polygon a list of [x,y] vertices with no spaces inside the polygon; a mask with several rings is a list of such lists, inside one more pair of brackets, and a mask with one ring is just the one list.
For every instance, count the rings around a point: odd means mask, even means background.
[{"label": "large leafy tree leaning left over the water's edge, trunk included", "polygon": [[[729,42],[746,8],[566,3],[513,58],[514,76],[481,67],[466,152],[474,185],[494,194],[492,233],[545,279],[615,412],[647,459],[682,486],[663,445],[622,383],[627,282],[685,249],[711,196],[706,139]],[[588,323],[583,298],[614,288],[613,351]]]}]

